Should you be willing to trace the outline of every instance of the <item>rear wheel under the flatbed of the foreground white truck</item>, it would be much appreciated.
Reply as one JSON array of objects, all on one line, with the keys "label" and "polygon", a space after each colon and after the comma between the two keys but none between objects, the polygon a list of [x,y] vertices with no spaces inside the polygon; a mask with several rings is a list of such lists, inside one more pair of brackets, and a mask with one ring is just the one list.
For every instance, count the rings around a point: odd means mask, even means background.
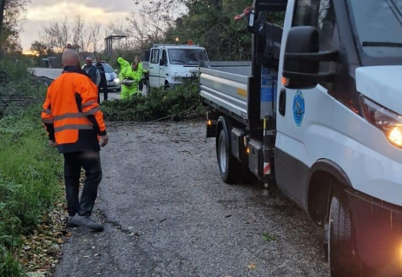
[{"label": "rear wheel under the flatbed of the foreground white truck", "polygon": [[224,128],[218,137],[217,156],[222,180],[228,184],[237,181],[239,174],[241,174],[241,164],[230,151],[229,137]]}]

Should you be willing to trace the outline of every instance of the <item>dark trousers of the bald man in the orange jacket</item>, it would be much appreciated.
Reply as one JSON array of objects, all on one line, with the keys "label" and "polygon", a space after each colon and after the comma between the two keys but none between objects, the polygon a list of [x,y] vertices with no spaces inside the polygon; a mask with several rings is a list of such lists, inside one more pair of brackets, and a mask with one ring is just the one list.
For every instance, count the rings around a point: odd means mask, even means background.
[{"label": "dark trousers of the bald man in the orange jacket", "polygon": [[[79,200],[81,167],[85,170],[85,182]],[[64,181],[69,216],[74,216],[76,213],[80,216],[91,215],[100,180],[102,180],[102,167],[99,152],[64,153]]]}]

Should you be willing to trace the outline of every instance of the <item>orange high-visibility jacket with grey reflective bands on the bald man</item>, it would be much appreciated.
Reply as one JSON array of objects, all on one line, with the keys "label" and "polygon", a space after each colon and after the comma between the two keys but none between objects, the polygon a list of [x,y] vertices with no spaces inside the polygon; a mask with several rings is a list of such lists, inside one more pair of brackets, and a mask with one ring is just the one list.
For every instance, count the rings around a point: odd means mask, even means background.
[{"label": "orange high-visibility jacket with grey reflective bands on the bald man", "polygon": [[41,117],[60,153],[99,151],[98,135],[106,134],[106,126],[97,87],[79,68],[65,67],[49,86]]}]

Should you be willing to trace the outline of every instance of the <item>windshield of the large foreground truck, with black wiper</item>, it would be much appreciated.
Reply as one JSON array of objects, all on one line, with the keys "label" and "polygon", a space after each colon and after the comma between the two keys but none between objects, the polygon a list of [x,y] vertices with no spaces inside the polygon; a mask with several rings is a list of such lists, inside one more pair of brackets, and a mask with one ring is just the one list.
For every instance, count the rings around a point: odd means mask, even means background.
[{"label": "windshield of the large foreground truck, with black wiper", "polygon": [[365,54],[402,55],[402,0],[349,0],[352,22]]}]

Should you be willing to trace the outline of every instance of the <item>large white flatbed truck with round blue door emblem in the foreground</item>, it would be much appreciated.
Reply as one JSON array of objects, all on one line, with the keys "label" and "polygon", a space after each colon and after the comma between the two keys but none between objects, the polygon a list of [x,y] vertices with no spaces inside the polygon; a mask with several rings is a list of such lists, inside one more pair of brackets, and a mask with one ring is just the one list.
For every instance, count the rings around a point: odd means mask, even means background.
[{"label": "large white flatbed truck with round blue door emblem in the foreground", "polygon": [[332,277],[402,276],[402,0],[254,0],[244,15],[251,66],[199,75],[222,179],[251,171],[303,208]]}]

